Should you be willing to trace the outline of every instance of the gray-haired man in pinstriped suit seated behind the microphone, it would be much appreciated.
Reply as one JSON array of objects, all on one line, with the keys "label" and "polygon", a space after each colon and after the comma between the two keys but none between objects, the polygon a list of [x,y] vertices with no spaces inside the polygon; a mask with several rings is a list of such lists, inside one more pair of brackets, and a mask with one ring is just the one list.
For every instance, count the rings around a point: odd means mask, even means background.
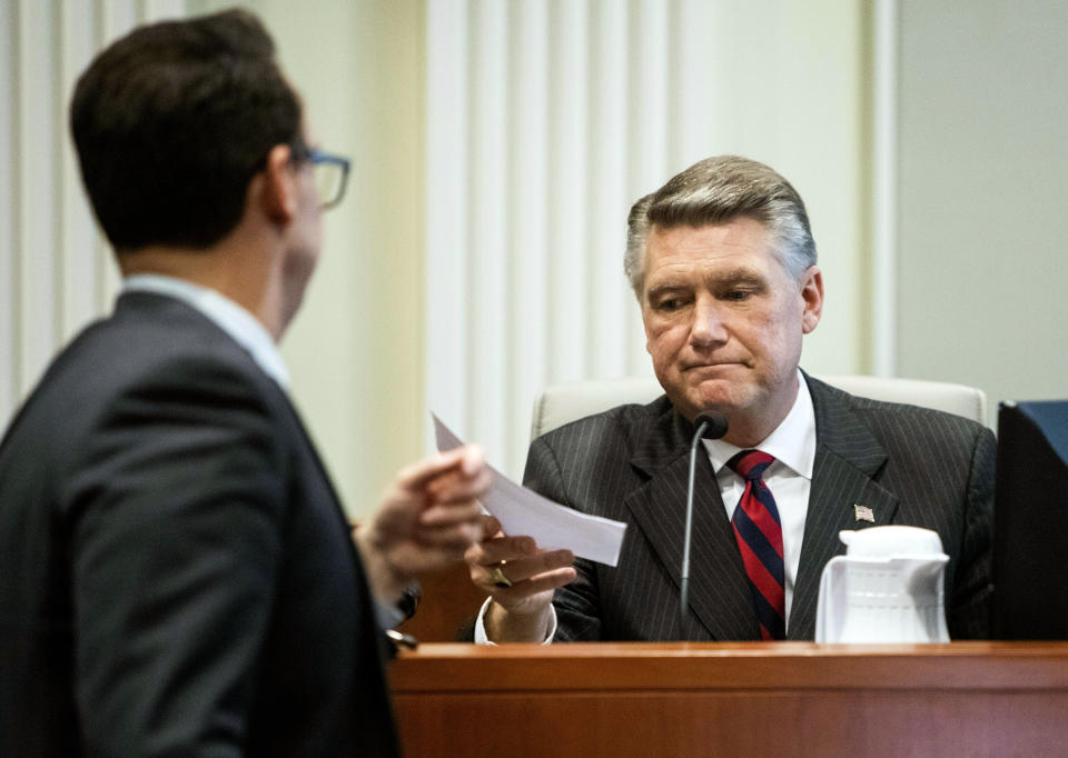
[{"label": "gray-haired man in pinstriped suit seated behind the microphone", "polygon": [[[630,523],[619,567],[488,520],[467,560],[478,641],[812,639],[841,529],[936,530],[952,637],[988,634],[995,440],[981,425],[856,398],[799,369],[823,279],[804,205],[767,166],[696,163],[631,210],[625,270],[665,396],[535,440],[526,483]],[[689,449],[702,411],[689,614],[679,614]]]}]

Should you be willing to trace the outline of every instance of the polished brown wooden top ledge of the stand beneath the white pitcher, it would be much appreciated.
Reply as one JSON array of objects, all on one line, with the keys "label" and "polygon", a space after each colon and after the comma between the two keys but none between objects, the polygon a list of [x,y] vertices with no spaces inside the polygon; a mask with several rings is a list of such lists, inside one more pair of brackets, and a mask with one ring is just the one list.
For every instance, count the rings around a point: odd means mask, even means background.
[{"label": "polished brown wooden top ledge of the stand beneath the white pitcher", "polygon": [[[522,665],[518,665],[521,664]],[[1068,642],[426,644],[393,662],[396,692],[874,687],[1068,689]]]}]

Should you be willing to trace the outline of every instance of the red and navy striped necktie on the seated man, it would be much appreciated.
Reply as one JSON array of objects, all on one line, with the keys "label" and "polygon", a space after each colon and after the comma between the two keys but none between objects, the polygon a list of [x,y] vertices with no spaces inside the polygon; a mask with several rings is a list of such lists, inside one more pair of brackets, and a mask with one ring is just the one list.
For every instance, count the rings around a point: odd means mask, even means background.
[{"label": "red and navy striped necktie on the seated man", "polygon": [[771,490],[761,477],[775,459],[760,450],[742,450],[726,465],[745,480],[731,523],[753,592],[761,639],[787,638],[785,568],[782,522]]}]

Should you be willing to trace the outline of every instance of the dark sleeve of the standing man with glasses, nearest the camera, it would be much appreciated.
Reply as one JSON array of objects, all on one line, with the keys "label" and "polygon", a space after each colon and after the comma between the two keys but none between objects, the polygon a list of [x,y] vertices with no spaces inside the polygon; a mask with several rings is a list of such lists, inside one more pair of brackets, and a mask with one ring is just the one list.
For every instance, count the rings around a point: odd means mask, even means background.
[{"label": "dark sleeve of the standing man with glasses, nearest the camera", "polygon": [[87,751],[239,755],[274,601],[286,461],[251,381],[161,367],[72,471],[76,698]]}]

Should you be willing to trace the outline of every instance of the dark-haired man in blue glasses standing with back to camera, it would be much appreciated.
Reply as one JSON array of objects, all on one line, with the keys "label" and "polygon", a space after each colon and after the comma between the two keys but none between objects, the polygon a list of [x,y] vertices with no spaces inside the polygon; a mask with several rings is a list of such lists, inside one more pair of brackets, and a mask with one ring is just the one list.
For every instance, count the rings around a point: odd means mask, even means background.
[{"label": "dark-haired man in blue glasses standing with back to camera", "polygon": [[287,397],[345,161],[239,11],[112,44],[71,126],[125,285],[0,443],[0,755],[395,754],[382,627],[488,472],[416,463],[354,539]]}]

